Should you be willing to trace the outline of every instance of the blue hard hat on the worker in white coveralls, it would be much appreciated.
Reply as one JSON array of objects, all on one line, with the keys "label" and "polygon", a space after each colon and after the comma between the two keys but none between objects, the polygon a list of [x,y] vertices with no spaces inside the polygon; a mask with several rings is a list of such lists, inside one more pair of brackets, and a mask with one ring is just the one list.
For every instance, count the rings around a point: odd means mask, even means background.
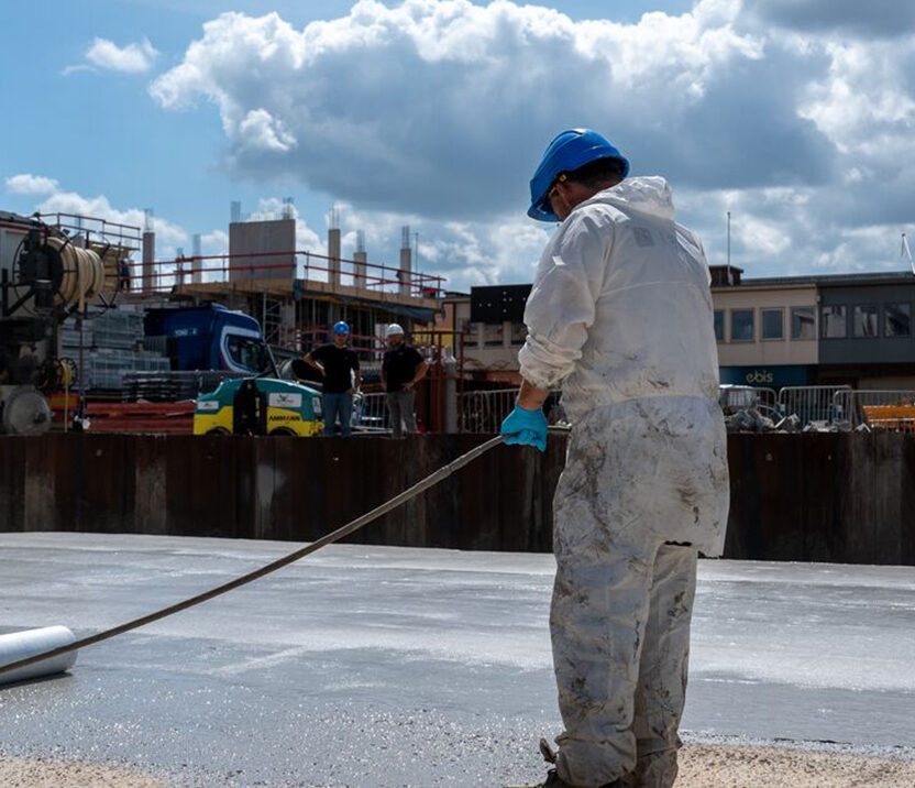
[{"label": "blue hard hat on the worker in white coveralls", "polygon": [[528,216],[540,221],[559,221],[547,194],[560,173],[571,173],[598,158],[615,158],[620,174],[629,174],[629,160],[603,134],[592,129],[567,129],[547,146],[537,172],[530,179]]}]

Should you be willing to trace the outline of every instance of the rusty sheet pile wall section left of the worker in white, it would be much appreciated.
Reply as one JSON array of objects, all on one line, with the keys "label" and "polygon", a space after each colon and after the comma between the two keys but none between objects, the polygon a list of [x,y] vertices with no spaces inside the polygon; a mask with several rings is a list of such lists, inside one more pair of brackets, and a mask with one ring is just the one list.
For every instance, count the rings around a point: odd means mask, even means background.
[{"label": "rusty sheet pile wall section left of the worker in white", "polygon": [[[488,437],[4,436],[0,530],[308,541]],[[561,439],[547,455],[497,447],[349,540],[549,550],[550,497],[563,462]]]}]

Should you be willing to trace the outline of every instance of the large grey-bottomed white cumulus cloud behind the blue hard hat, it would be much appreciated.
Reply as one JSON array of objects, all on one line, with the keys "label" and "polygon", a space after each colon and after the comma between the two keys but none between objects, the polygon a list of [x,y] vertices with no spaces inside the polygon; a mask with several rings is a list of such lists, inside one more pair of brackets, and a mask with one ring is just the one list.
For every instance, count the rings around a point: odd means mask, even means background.
[{"label": "large grey-bottomed white cumulus cloud behind the blue hard hat", "polygon": [[[168,109],[213,102],[239,174],[294,175],[338,198],[426,216],[517,208],[533,162],[569,124],[607,129],[642,171],[654,160],[713,185],[737,169],[749,183],[816,177],[828,145],[778,86],[732,112],[778,124],[783,144],[765,151],[778,172],[743,166],[746,147],[703,111],[707,95],[732,91],[729,75],[763,54],[719,4],[636,25],[505,1],[363,0],[302,30],[275,13],[225,13],[151,91]],[[741,133],[748,144],[768,139],[754,123]],[[695,155],[702,138],[714,157]]]}]

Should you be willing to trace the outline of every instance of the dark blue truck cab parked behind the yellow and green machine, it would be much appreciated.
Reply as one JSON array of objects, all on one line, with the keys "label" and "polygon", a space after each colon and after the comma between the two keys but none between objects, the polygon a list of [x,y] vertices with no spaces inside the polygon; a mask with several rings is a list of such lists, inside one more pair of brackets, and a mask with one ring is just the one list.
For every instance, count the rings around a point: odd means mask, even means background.
[{"label": "dark blue truck cab parked behind the yellow and green machine", "polygon": [[150,309],[144,333],[147,340],[162,340],[175,371],[229,370],[255,375],[275,372],[261,324],[219,304]]}]

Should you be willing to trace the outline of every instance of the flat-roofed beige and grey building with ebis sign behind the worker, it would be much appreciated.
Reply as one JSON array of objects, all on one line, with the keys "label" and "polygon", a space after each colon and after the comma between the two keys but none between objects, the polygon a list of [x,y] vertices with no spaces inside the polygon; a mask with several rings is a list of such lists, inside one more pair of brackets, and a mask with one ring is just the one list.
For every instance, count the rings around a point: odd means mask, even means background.
[{"label": "flat-roofed beige and grey building with ebis sign behind the worker", "polygon": [[[732,265],[710,272],[721,383],[915,388],[911,272],[756,278]],[[520,382],[529,292],[530,285],[473,287],[447,299],[467,376]]]}]

